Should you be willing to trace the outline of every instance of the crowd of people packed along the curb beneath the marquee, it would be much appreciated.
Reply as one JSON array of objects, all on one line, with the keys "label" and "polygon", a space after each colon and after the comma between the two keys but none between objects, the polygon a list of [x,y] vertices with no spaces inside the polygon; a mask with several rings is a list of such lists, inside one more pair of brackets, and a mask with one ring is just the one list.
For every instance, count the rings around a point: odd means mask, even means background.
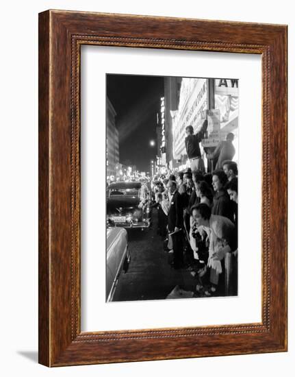
[{"label": "crowd of people packed along the curb beneath the marquee", "polygon": [[224,160],[211,173],[188,168],[159,176],[153,195],[172,267],[188,269],[205,295],[237,295],[237,164]]}]

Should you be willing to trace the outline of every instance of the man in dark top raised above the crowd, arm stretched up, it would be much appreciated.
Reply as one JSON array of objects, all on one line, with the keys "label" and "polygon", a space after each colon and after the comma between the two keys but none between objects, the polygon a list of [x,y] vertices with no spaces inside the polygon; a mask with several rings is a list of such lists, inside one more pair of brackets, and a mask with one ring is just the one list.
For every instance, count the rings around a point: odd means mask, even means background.
[{"label": "man in dark top raised above the crowd, arm stretched up", "polygon": [[188,154],[188,159],[190,160],[190,169],[192,171],[200,170],[205,171],[205,165],[203,158],[201,157],[200,145],[202,138],[204,138],[204,133],[207,130],[208,121],[205,120],[201,127],[201,130],[194,134],[194,128],[192,125],[188,125],[185,128],[186,138],[185,138],[185,149]]}]

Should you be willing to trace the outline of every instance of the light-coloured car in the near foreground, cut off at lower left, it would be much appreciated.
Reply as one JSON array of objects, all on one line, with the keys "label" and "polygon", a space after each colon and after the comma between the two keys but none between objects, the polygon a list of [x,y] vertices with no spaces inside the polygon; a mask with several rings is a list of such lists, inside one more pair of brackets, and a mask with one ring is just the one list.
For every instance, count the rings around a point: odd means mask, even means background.
[{"label": "light-coloured car in the near foreground, cut off at lower left", "polygon": [[105,300],[114,298],[118,279],[122,271],[127,272],[131,260],[128,250],[127,231],[124,228],[107,229],[107,271]]}]

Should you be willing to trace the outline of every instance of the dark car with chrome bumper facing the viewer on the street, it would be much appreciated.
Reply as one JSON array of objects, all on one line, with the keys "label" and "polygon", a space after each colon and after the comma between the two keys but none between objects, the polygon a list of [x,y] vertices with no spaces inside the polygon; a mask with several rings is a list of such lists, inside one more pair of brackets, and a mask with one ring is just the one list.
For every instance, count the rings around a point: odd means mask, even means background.
[{"label": "dark car with chrome bumper facing the viewer on the street", "polygon": [[108,227],[149,228],[151,226],[151,194],[147,195],[146,200],[140,200],[142,184],[142,182],[116,182],[107,187]]}]

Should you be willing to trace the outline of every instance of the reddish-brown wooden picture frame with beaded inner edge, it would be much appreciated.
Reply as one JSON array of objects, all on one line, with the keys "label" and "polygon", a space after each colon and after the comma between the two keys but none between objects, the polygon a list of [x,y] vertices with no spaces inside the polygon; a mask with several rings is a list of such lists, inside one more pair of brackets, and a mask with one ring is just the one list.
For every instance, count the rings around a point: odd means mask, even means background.
[{"label": "reddish-brown wooden picture frame with beaded inner edge", "polygon": [[[80,47],[255,53],[262,61],[261,323],[81,332]],[[287,350],[287,26],[49,10],[39,14],[39,362]]]}]

